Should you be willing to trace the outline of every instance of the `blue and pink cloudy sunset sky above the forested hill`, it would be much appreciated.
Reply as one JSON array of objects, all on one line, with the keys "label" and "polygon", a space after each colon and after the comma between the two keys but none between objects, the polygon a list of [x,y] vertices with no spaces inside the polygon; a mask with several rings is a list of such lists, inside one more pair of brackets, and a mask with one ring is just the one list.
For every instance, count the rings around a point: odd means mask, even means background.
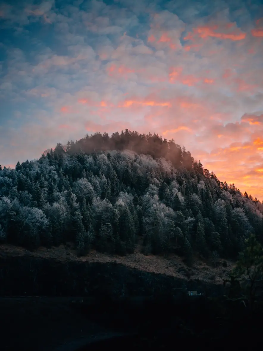
[{"label": "blue and pink cloudy sunset sky above the forested hill", "polygon": [[125,128],[262,201],[262,1],[0,1],[0,164]]}]

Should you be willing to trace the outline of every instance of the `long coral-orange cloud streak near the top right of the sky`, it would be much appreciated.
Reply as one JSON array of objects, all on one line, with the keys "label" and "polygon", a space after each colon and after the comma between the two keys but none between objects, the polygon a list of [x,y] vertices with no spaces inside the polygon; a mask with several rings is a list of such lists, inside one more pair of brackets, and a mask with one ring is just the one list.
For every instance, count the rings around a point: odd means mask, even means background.
[{"label": "long coral-orange cloud streak near the top right of the sky", "polygon": [[[232,27],[227,27],[228,25],[225,26],[226,29],[229,29]],[[198,36],[200,38],[207,38],[207,37],[213,37],[213,38],[218,38],[218,39],[230,39],[230,40],[243,40],[246,37],[246,33],[241,32],[240,30],[237,30],[232,33],[222,33],[222,32],[216,32],[218,29],[218,25],[214,26],[200,26],[197,28],[193,28],[193,33],[189,33],[186,35],[184,40],[192,40],[194,36]]]}]

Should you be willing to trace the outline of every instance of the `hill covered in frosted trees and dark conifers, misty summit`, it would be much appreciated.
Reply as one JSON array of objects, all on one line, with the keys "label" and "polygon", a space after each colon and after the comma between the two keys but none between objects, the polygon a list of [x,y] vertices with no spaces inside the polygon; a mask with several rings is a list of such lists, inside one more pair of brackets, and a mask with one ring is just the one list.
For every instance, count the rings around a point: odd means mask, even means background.
[{"label": "hill covered in frosted trees and dark conifers, misty summit", "polygon": [[95,133],[0,171],[1,243],[30,249],[73,241],[79,255],[125,255],[142,237],[145,254],[236,258],[250,233],[263,242],[262,213],[156,134]]}]

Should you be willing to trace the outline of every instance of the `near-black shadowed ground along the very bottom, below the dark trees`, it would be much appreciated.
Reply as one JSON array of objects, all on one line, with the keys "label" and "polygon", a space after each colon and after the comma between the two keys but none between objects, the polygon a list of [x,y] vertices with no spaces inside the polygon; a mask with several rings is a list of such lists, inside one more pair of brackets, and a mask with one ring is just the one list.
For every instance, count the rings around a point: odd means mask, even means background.
[{"label": "near-black shadowed ground along the very bottom, below the dark trees", "polygon": [[0,350],[262,350],[261,323],[204,299],[176,306],[73,299],[0,298]]}]

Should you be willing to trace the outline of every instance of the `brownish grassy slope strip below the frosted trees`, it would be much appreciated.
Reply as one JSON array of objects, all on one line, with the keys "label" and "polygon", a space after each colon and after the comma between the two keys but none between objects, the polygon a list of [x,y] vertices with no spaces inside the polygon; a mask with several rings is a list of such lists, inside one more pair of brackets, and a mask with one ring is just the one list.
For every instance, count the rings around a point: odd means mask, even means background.
[{"label": "brownish grassy slope strip below the frosted trees", "polygon": [[190,269],[183,262],[182,257],[176,254],[170,254],[167,258],[163,255],[145,256],[141,253],[141,245],[138,244],[133,254],[120,257],[116,255],[103,254],[96,251],[91,251],[85,257],[77,257],[76,251],[71,243],[66,246],[59,247],[40,247],[37,251],[30,252],[22,247],[12,245],[0,245],[0,258],[8,256],[29,255],[32,257],[53,258],[59,261],[90,261],[90,262],[113,262],[135,267],[136,269],[174,276],[180,279],[200,279],[203,282],[213,282],[214,284],[223,284],[223,279],[226,278],[228,272],[233,267],[234,262],[226,260],[228,266],[222,266],[222,260],[218,260],[218,265],[215,268],[211,260],[201,260],[196,257],[195,263]]}]

